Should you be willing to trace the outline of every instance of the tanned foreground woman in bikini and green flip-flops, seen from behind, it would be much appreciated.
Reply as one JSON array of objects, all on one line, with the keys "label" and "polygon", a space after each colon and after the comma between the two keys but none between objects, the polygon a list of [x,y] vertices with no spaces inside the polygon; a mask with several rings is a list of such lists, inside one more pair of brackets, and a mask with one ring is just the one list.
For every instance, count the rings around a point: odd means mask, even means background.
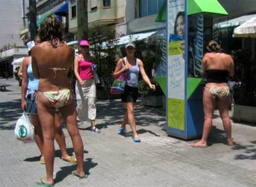
[{"label": "tanned foreground woman in bikini and green flip-flops, seen from behind", "polygon": [[42,186],[53,186],[54,164],[54,114],[59,109],[66,122],[72,140],[77,169],[72,172],[79,178],[85,177],[83,169],[83,142],[77,127],[72,84],[68,77],[74,62],[74,49],[64,44],[63,26],[53,15],[40,24],[40,44],[33,47],[32,68],[35,78],[40,79],[37,95],[38,117],[43,131],[43,154],[45,156],[46,176],[36,182]]}]

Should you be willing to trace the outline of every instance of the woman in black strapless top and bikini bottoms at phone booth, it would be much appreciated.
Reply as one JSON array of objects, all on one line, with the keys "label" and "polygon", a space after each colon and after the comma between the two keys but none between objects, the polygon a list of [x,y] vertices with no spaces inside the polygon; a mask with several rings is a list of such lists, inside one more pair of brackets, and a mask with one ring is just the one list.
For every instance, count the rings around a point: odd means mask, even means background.
[{"label": "woman in black strapless top and bikini bottoms at phone booth", "polygon": [[234,62],[231,55],[224,54],[223,49],[215,41],[208,42],[207,53],[203,56],[203,75],[207,84],[203,89],[203,135],[200,141],[192,143],[192,147],[207,147],[207,139],[213,121],[213,110],[218,106],[228,145],[236,142],[231,136],[231,121],[229,119],[229,87],[228,78],[234,76]]}]

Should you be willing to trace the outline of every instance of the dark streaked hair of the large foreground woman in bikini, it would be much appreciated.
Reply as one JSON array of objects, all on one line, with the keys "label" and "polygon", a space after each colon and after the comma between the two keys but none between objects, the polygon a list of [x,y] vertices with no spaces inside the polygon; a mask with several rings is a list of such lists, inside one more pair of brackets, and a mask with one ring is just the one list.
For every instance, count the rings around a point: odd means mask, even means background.
[{"label": "dark streaked hair of the large foreground woman in bikini", "polygon": [[[49,41],[53,46],[64,41],[64,27],[54,15],[49,15],[40,24],[39,38],[41,42]],[[58,47],[58,45],[57,45]]]}]

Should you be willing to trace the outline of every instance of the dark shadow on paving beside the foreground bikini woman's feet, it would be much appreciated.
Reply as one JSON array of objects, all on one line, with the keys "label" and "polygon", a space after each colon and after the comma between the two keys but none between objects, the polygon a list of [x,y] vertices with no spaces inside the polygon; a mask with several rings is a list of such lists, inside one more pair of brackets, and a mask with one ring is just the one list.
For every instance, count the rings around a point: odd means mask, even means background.
[{"label": "dark shadow on paving beside the foreground bikini woman's feet", "polygon": [[[98,165],[98,163],[92,162],[92,158],[85,159],[85,161],[83,162],[83,168],[85,169],[85,174],[90,175],[89,170],[95,167],[96,165]],[[71,175],[71,172],[76,169],[77,169],[77,164],[61,167],[61,170],[59,170],[59,172],[56,173],[54,183],[61,182],[64,178],[67,177],[67,175]],[[72,177],[75,177],[75,176],[72,175]]]}]

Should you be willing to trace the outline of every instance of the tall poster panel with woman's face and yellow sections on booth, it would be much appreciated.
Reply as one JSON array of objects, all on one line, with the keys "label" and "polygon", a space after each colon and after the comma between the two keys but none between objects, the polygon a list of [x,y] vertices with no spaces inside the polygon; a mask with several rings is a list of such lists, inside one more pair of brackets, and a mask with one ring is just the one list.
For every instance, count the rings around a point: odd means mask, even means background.
[{"label": "tall poster panel with woman's face and yellow sections on booth", "polygon": [[185,129],[185,1],[168,0],[168,126]]}]

